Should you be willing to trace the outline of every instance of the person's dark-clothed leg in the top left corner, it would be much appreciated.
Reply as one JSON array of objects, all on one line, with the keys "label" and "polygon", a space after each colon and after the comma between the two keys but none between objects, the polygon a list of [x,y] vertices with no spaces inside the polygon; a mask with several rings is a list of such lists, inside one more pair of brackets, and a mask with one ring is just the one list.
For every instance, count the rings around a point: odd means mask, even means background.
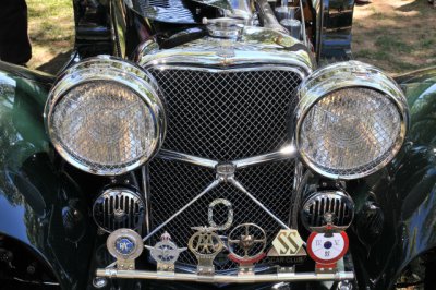
[{"label": "person's dark-clothed leg in the top left corner", "polygon": [[0,0],[0,60],[24,64],[31,57],[25,0]]}]

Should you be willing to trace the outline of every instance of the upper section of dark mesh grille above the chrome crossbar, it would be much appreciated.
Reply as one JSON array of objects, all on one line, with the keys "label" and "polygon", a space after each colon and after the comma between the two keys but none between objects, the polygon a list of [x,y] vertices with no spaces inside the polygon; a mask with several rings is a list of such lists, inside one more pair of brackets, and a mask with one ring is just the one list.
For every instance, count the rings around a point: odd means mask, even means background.
[{"label": "upper section of dark mesh grille above the chrome crossbar", "polygon": [[150,72],[168,105],[166,149],[223,161],[274,152],[288,140],[295,72]]}]

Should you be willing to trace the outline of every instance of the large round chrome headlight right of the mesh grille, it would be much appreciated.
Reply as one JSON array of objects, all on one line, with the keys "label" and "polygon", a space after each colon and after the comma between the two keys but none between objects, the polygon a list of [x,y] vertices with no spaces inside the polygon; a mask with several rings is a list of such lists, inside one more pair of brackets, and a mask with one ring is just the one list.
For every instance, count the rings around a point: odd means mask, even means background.
[{"label": "large round chrome headlight right of the mesh grille", "polygon": [[361,62],[336,63],[302,84],[295,143],[314,171],[362,178],[396,156],[408,120],[405,97],[391,78]]}]

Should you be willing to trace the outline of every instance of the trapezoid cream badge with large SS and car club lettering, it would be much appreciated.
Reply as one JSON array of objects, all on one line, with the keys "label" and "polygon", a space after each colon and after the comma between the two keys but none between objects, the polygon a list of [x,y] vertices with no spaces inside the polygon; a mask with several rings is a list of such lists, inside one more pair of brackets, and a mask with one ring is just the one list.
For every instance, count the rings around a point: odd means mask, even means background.
[{"label": "trapezoid cream badge with large SS and car club lettering", "polygon": [[272,247],[268,252],[270,257],[305,256],[303,240],[296,230],[280,230],[272,241]]}]

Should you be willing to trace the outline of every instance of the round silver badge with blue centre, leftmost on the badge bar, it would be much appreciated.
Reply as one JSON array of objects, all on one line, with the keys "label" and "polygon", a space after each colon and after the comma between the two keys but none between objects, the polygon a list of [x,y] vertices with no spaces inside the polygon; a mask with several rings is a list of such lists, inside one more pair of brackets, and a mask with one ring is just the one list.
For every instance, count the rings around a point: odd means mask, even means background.
[{"label": "round silver badge with blue centre, leftmost on the badge bar", "polygon": [[109,234],[106,241],[109,253],[117,258],[117,268],[131,270],[144,249],[141,235],[131,229],[119,229]]}]

